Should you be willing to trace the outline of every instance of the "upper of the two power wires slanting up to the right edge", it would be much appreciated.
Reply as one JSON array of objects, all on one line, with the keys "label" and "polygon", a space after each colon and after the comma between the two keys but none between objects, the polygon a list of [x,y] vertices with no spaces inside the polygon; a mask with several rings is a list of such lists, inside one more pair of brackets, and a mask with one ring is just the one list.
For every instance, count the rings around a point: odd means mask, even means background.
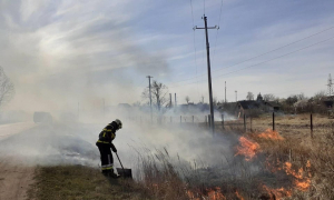
[{"label": "upper of the two power wires slanting up to the right edge", "polygon": [[[301,42],[301,41],[303,41],[303,40],[310,39],[310,38],[312,38],[312,37],[315,37],[315,36],[317,36],[317,34],[321,34],[321,33],[326,32],[326,31],[332,30],[332,29],[334,29],[334,27],[331,27],[331,28],[328,28],[328,29],[322,30],[322,31],[316,32],[316,33],[314,33],[314,34],[311,34],[311,36],[308,36],[308,37],[306,37],[306,38],[296,40],[296,41],[294,41],[294,42],[291,42],[291,43],[287,43],[287,44],[285,44],[285,46],[282,46],[282,47],[279,47],[279,48],[273,49],[273,50],[271,50],[271,51],[264,52],[264,53],[258,54],[258,56],[256,56],[256,57],[252,57],[252,58],[249,58],[249,59],[246,59],[246,60],[244,60],[244,61],[237,62],[237,63],[235,63],[235,64],[232,64],[232,66],[228,66],[228,67],[225,67],[225,68],[220,68],[220,69],[213,70],[213,72],[220,71],[220,70],[227,69],[227,68],[232,68],[232,67],[238,66],[238,64],[240,64],[240,63],[247,62],[247,61],[249,61],[249,60],[253,60],[253,59],[263,57],[263,56],[265,56],[265,54],[268,54],[268,53],[272,53],[272,52],[277,51],[277,50],[279,50],[279,49],[286,48],[286,47],[292,46],[292,44],[295,44],[295,43],[297,43],[297,42]],[[199,77],[202,77],[202,76],[203,76],[203,74],[200,74]],[[175,81],[175,82],[171,82],[171,83],[184,82],[184,81],[188,81],[188,80],[191,80],[191,79],[194,79],[194,78],[188,78],[188,79],[185,79],[185,80],[181,80],[181,81]]]}]

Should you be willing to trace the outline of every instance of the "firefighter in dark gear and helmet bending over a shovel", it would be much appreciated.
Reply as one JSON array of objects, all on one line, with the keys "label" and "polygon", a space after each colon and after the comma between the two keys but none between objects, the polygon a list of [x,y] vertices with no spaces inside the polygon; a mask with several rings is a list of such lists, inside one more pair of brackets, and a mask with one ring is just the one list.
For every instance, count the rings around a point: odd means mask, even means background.
[{"label": "firefighter in dark gear and helmet bending over a shovel", "polygon": [[121,129],[121,121],[116,119],[109,123],[99,134],[99,140],[96,146],[99,148],[101,158],[101,172],[106,177],[118,178],[119,176],[114,172],[114,159],[110,149],[117,152],[112,140],[116,137],[116,131]]}]

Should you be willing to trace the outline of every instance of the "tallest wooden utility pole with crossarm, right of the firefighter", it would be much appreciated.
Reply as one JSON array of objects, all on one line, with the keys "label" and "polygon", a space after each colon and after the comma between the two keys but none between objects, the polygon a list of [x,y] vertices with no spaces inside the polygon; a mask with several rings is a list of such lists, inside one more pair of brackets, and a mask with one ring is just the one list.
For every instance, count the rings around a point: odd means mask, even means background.
[{"label": "tallest wooden utility pole with crossarm, right of the firefighter", "polygon": [[207,27],[207,17],[204,16],[204,28],[197,28],[194,27],[194,30],[196,29],[205,29],[205,38],[206,38],[206,57],[207,57],[207,77],[208,77],[208,91],[209,91],[209,103],[210,103],[210,128],[213,134],[215,133],[215,117],[214,117],[214,102],[213,102],[213,87],[212,87],[212,69],[210,69],[210,51],[209,51],[209,42],[208,42],[208,34],[207,30],[208,29],[219,29],[219,27]]}]

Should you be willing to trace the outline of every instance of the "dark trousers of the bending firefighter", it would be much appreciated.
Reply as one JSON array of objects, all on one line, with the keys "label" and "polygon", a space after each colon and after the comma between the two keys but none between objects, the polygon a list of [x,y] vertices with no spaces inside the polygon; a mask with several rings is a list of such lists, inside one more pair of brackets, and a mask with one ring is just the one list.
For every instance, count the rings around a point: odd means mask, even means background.
[{"label": "dark trousers of the bending firefighter", "polygon": [[102,173],[114,172],[114,159],[110,151],[110,144],[98,142],[97,147],[100,151]]}]

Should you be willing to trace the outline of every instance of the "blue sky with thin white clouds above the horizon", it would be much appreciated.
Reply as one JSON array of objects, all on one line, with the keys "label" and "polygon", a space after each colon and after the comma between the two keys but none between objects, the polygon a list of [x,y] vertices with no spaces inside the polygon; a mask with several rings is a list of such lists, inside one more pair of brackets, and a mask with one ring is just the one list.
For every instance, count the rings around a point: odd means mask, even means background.
[{"label": "blue sky with thin white clouds above the horizon", "polygon": [[331,0],[0,0],[0,66],[17,87],[12,107],[132,103],[148,74],[179,102],[207,101],[204,31],[193,30],[205,11],[220,27],[209,30],[214,97],[224,99],[224,81],[228,101],[235,90],[310,97],[334,74],[334,29],[248,59],[334,27],[333,9]]}]

